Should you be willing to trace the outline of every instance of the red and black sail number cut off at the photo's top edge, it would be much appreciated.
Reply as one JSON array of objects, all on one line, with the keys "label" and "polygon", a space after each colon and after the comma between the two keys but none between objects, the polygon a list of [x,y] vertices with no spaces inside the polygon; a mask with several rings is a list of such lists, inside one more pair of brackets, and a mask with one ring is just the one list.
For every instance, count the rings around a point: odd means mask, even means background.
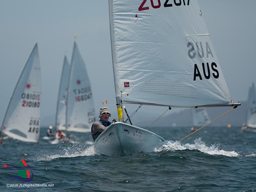
[{"label": "red and black sail number cut off at the photo's top edge", "polygon": [[[138,8],[139,11],[149,9],[149,7],[146,7],[147,5],[145,5],[146,2],[147,0],[143,0],[143,2],[140,4],[140,7]],[[160,0],[150,0],[150,3],[151,3],[151,7],[153,7],[154,9],[161,7]],[[165,0],[164,2],[164,7],[173,7],[173,5],[175,6],[189,5],[189,0]]]}]

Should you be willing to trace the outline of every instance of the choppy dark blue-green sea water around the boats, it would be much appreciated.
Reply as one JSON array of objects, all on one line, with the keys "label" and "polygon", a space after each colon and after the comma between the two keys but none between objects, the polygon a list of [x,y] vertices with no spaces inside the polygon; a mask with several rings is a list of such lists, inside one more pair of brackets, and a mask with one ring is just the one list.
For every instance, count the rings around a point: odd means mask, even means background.
[{"label": "choppy dark blue-green sea water around the boats", "polygon": [[[6,139],[0,145],[0,191],[252,192],[256,191],[256,133],[240,126],[205,127],[182,142],[190,127],[150,129],[166,141],[152,152],[109,157],[96,154],[90,133],[70,133],[71,142],[31,144]],[[12,175],[24,159],[33,180]],[[7,187],[7,184],[27,184]],[[28,187],[28,184],[54,187]]]}]

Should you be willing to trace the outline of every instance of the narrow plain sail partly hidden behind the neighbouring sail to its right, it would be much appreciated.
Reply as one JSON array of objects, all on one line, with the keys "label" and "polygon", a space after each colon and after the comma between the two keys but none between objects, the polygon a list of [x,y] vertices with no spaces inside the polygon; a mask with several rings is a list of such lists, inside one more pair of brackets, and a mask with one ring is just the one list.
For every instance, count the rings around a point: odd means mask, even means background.
[{"label": "narrow plain sail partly hidden behind the neighbouring sail to its right", "polygon": [[65,56],[62,73],[61,82],[59,86],[59,95],[57,100],[57,110],[56,110],[56,129],[65,130],[66,129],[66,106],[67,106],[67,86],[69,77],[69,62]]}]

